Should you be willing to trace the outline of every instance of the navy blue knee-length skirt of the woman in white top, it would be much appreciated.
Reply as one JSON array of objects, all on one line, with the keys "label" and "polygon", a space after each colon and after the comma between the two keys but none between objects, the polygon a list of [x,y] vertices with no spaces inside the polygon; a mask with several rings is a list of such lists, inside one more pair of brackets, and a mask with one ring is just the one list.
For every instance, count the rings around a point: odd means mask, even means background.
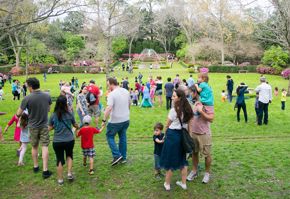
[{"label": "navy blue knee-length skirt of the woman in white top", "polygon": [[165,170],[177,170],[188,166],[186,153],[181,144],[181,130],[167,129],[163,144],[160,166]]}]

